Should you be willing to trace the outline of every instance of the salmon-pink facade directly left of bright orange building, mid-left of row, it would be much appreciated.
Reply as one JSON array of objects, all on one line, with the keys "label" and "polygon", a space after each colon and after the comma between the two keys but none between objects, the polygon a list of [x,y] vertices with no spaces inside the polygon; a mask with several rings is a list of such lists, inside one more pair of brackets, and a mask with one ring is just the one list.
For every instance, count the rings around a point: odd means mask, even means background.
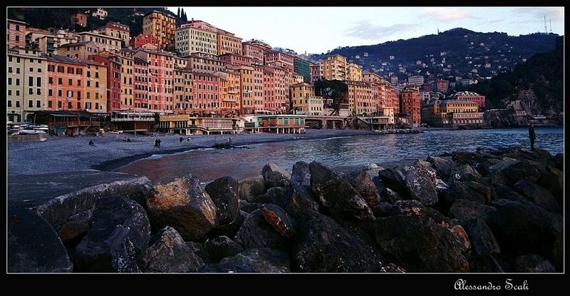
[{"label": "salmon-pink facade directly left of bright orange building, mid-left of row", "polygon": [[219,113],[219,77],[210,73],[193,72],[193,100],[190,108],[202,114]]}]

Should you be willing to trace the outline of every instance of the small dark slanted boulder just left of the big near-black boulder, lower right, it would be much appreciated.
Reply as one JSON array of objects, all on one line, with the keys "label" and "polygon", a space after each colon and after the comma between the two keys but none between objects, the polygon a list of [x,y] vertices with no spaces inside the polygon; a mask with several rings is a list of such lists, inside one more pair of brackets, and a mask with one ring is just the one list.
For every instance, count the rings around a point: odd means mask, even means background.
[{"label": "small dark slanted boulder just left of the big near-black boulder, lower right", "polygon": [[477,255],[500,255],[501,248],[486,223],[480,218],[464,220],[462,226],[469,235],[472,249]]}]

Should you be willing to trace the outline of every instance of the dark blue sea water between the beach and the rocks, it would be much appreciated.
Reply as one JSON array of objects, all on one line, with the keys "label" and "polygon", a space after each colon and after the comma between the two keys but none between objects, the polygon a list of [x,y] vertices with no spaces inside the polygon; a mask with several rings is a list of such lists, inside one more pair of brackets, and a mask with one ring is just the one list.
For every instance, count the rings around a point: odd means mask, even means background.
[{"label": "dark blue sea water between the beach and the rocks", "polygon": [[[537,127],[535,146],[552,155],[564,152],[564,128]],[[146,175],[167,182],[192,173],[204,182],[231,175],[242,179],[259,175],[272,162],[291,171],[299,160],[316,160],[339,171],[349,171],[369,163],[425,158],[445,151],[530,146],[527,128],[471,131],[426,131],[417,134],[367,135],[321,140],[262,143],[252,149],[192,150],[174,155],[158,155],[137,160],[118,171]]]}]

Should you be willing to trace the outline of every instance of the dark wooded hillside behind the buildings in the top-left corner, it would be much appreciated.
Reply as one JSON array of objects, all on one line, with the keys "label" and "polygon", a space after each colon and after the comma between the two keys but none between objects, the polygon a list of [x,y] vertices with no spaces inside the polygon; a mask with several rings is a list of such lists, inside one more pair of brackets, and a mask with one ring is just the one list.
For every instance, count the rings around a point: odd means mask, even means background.
[{"label": "dark wooded hillside behind the buildings in the top-left corner", "polygon": [[76,26],[71,22],[71,15],[77,12],[84,12],[88,8],[11,8],[8,9],[8,18],[19,21],[26,21],[35,28],[46,29],[73,29],[75,31],[89,31],[99,26],[107,24],[108,21],[118,21],[130,27],[130,36],[137,36],[142,32],[142,16],[135,15],[135,12],[147,14],[150,11],[162,11],[172,16],[175,14],[165,7],[138,7],[138,8],[104,8],[108,12],[108,17],[100,20],[93,16],[88,16],[87,27]]}]

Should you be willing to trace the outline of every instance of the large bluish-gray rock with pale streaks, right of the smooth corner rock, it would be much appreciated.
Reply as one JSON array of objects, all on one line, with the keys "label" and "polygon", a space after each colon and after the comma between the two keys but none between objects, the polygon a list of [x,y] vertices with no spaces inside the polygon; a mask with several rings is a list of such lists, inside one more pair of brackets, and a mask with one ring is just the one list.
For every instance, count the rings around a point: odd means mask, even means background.
[{"label": "large bluish-gray rock with pale streaks, right of the smooth corner rock", "polygon": [[145,209],[110,196],[95,202],[87,235],[76,246],[78,272],[140,272],[150,238]]}]

